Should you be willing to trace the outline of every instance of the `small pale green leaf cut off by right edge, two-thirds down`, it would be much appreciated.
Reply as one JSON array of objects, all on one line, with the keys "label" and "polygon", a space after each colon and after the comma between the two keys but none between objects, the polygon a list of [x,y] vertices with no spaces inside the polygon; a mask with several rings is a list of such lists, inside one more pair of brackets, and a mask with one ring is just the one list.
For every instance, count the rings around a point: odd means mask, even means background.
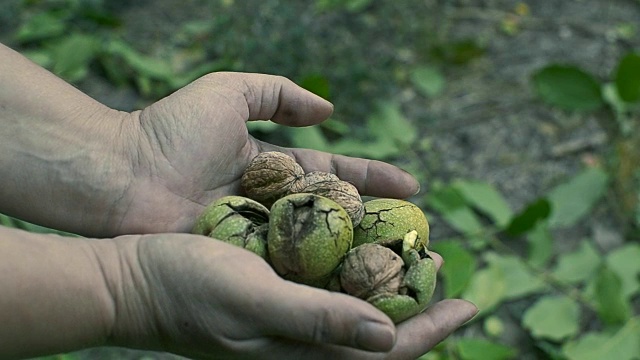
[{"label": "small pale green leaf cut off by right edge, two-thirds down", "polygon": [[640,244],[627,244],[609,252],[607,266],[622,281],[622,294],[630,299],[640,292]]}]

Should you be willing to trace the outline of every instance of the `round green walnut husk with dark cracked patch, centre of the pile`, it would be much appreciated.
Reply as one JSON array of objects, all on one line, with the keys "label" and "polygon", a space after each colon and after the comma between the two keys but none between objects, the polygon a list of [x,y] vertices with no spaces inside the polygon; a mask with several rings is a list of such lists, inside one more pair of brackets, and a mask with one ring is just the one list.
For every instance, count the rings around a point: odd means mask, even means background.
[{"label": "round green walnut husk with dark cracked patch, centre of the pile", "polygon": [[351,248],[353,225],[333,200],[292,194],[271,207],[267,244],[271,264],[285,279],[324,287]]}]

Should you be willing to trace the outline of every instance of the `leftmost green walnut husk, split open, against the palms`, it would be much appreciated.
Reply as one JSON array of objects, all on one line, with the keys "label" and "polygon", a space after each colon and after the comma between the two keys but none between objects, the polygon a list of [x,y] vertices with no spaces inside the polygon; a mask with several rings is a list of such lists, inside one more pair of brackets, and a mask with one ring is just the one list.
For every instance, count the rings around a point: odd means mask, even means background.
[{"label": "leftmost green walnut husk, split open, against the palms", "polygon": [[269,260],[269,209],[242,196],[225,196],[211,203],[196,220],[194,234],[205,235]]}]

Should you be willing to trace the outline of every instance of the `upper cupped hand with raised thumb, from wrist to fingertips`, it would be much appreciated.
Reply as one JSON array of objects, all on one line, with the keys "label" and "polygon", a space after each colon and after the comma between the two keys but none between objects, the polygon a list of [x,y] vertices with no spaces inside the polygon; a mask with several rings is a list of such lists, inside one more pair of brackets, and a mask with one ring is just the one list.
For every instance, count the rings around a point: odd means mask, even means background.
[{"label": "upper cupped hand with raised thumb, from wrist to fingertips", "polygon": [[213,73],[132,113],[120,134],[132,176],[111,213],[113,232],[189,231],[207,204],[241,191],[242,172],[261,151],[292,155],[307,172],[335,173],[363,195],[405,198],[418,191],[411,175],[387,163],[280,148],[247,132],[248,120],[307,126],[332,110],[282,77]]}]

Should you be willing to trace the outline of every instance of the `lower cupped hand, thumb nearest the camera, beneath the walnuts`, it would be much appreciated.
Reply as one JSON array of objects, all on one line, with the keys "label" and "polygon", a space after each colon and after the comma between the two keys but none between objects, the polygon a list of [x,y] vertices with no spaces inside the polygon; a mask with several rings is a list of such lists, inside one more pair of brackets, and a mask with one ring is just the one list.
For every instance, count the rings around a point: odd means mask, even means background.
[{"label": "lower cupped hand, thumb nearest the camera, beneath the walnuts", "polygon": [[[120,261],[103,266],[118,284],[111,338],[118,346],[200,359],[415,359],[477,312],[445,300],[394,327],[362,300],[285,281],[258,256],[217,240],[116,241]],[[432,256],[440,267],[442,258]]]}]

